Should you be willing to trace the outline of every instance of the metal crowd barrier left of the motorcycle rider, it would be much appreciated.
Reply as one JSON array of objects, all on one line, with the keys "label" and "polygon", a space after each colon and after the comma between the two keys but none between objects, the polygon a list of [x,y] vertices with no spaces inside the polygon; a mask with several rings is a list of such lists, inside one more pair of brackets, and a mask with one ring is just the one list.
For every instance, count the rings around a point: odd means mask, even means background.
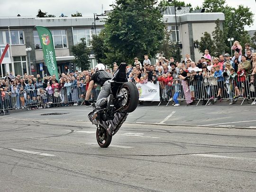
[{"label": "metal crowd barrier left of the motorcycle rider", "polygon": [[[101,86],[93,87],[90,99],[97,100],[101,91]],[[4,113],[9,109],[24,109],[28,110],[37,108],[49,108],[68,105],[82,105],[84,103],[86,87],[68,86],[52,89],[33,89],[23,90],[12,93],[11,88],[6,92],[5,97],[0,102],[0,110]]]}]

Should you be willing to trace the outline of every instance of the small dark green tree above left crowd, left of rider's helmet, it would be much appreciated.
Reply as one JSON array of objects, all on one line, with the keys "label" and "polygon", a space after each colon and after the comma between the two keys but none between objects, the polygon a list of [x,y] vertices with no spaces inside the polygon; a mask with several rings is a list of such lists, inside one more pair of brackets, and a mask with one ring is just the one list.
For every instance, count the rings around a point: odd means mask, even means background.
[{"label": "small dark green tree above left crowd, left of rider's helmet", "polygon": [[90,50],[87,48],[85,38],[82,38],[81,42],[73,45],[71,47],[71,51],[73,52],[73,55],[75,57],[73,63],[77,67],[81,67],[81,70],[88,70],[90,68]]}]

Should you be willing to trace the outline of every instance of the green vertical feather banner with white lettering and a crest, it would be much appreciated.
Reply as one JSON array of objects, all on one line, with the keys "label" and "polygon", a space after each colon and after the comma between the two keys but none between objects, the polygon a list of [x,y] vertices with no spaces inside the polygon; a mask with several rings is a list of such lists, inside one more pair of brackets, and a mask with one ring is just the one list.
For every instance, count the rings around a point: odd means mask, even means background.
[{"label": "green vertical feather banner with white lettering and a crest", "polygon": [[43,49],[46,67],[50,75],[55,75],[56,79],[59,80],[52,33],[46,27],[37,26],[36,28]]}]

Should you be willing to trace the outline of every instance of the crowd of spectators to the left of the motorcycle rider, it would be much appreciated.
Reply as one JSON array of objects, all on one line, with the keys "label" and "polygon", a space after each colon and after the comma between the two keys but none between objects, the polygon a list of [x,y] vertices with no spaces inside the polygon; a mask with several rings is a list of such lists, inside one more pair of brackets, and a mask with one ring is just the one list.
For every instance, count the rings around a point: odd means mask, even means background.
[{"label": "crowd of spectators to the left of the motorcycle rider", "polygon": [[[70,71],[61,74],[59,80],[55,75],[41,77],[37,75],[20,75],[14,77],[12,73],[6,74],[0,80],[0,115],[9,114],[9,109],[34,110],[49,107],[79,105],[85,97],[93,69]],[[97,84],[91,93],[92,98],[97,98],[101,87]]]}]

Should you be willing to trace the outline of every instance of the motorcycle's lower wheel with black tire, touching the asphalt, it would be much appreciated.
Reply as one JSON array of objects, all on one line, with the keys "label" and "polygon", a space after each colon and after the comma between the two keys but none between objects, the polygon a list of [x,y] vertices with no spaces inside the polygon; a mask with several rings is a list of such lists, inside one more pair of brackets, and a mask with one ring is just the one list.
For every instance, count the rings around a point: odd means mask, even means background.
[{"label": "motorcycle's lower wheel with black tire, touching the asphalt", "polygon": [[102,148],[107,148],[112,141],[112,136],[101,125],[97,126],[96,138],[99,146]]}]

